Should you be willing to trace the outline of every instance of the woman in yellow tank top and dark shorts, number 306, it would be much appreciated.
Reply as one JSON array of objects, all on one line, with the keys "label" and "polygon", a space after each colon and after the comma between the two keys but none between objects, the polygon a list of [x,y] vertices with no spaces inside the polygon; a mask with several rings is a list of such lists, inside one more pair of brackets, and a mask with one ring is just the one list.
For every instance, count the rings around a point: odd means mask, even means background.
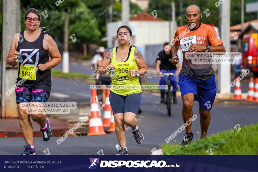
[{"label": "woman in yellow tank top and dark shorts, number 306", "polygon": [[125,124],[132,129],[138,144],[143,142],[143,135],[135,118],[142,101],[139,76],[147,72],[147,66],[141,52],[130,45],[132,30],[121,26],[117,30],[118,47],[109,50],[96,70],[103,74],[115,70],[112,77],[109,101],[115,118],[115,130],[121,149],[116,155],[126,155]]}]

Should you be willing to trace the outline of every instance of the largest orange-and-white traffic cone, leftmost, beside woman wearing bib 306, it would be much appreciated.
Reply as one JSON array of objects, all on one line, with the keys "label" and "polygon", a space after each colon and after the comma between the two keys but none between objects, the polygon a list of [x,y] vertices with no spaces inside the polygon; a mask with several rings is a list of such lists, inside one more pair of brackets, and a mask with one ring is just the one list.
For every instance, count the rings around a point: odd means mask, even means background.
[{"label": "largest orange-and-white traffic cone, leftmost, beside woman wearing bib 306", "polygon": [[106,134],[103,129],[101,117],[99,115],[99,105],[96,101],[96,97],[91,98],[91,116],[89,119],[89,133],[87,136],[104,135]]}]

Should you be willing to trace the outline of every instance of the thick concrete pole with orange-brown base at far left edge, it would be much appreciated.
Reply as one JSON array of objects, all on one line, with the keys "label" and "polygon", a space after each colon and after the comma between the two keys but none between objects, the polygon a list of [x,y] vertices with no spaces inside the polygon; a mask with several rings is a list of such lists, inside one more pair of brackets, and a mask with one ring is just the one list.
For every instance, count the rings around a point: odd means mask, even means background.
[{"label": "thick concrete pole with orange-brown base at far left edge", "polygon": [[[7,61],[7,55],[11,46],[13,35],[21,32],[21,4],[20,0],[2,0],[2,95],[1,117],[18,118],[16,108],[15,90],[6,94],[13,86],[18,76],[18,65],[11,67]],[[11,17],[10,17],[11,16]],[[17,38],[19,39],[19,37]]]}]

